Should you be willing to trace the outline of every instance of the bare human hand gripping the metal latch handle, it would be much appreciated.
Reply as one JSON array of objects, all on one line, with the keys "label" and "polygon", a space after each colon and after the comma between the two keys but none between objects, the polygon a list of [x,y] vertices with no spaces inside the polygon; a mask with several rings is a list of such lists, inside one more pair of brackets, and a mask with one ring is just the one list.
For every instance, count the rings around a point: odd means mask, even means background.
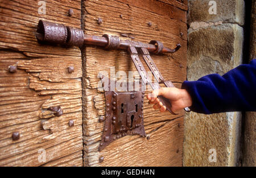
[{"label": "bare human hand gripping the metal latch handle", "polygon": [[185,89],[177,89],[175,87],[171,88],[160,88],[154,90],[152,93],[147,95],[147,99],[150,101],[150,104],[153,104],[153,108],[160,112],[166,111],[166,106],[163,106],[162,102],[157,98],[157,96],[163,96],[170,100],[171,110],[174,113],[177,113],[179,110],[184,109],[185,107],[192,106],[192,98],[190,94]]}]

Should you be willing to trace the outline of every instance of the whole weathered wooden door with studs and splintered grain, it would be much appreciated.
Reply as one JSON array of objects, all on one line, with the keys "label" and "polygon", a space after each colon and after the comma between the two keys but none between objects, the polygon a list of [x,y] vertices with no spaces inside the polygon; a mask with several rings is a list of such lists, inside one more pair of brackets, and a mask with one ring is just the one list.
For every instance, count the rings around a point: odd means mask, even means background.
[{"label": "whole weathered wooden door with studs and splintered grain", "polygon": [[[0,165],[182,165],[184,113],[154,111],[146,96],[144,126],[150,139],[124,136],[98,151],[104,130],[98,119],[105,117],[98,73],[113,67],[135,71],[127,51],[39,44],[35,32],[43,19],[90,35],[160,40],[170,48],[180,43],[176,53],[151,56],[163,77],[180,88],[186,79],[186,11],[187,0],[1,1]],[[55,106],[63,114],[49,110]],[[17,132],[19,139],[13,137]]]}]

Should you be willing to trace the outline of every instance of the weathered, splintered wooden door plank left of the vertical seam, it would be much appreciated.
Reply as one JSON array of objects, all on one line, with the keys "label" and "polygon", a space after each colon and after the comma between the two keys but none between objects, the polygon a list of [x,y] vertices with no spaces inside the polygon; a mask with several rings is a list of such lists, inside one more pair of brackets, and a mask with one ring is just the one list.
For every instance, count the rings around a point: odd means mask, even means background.
[{"label": "weathered, splintered wooden door plank left of the vertical seam", "polygon": [[[35,38],[39,19],[80,28],[81,1],[47,0],[46,14],[38,8],[38,1],[0,3],[0,165],[82,166],[80,49]],[[75,71],[68,73],[71,65]],[[61,106],[63,115],[55,117],[51,106]],[[14,131],[20,134],[15,141]]]}]

